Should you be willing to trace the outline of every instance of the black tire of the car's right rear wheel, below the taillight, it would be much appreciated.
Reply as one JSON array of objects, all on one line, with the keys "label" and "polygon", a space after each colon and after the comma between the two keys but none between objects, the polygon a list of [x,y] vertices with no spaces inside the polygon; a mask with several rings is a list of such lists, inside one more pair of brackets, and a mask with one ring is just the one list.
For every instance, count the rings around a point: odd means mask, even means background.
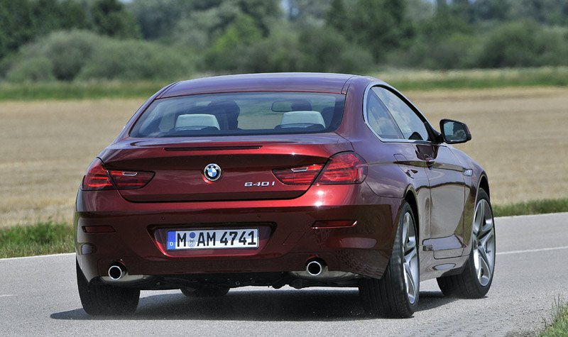
[{"label": "black tire of the car's right rear wheel, below the taillight", "polygon": [[[405,254],[403,248],[405,241],[410,242],[407,238],[403,238],[403,222],[406,214],[410,216],[411,225],[415,234],[415,258],[411,258],[413,262],[413,297],[410,297],[407,282],[405,281]],[[404,203],[400,212],[400,221],[396,231],[395,241],[393,245],[393,253],[391,260],[380,280],[369,278],[361,280],[359,284],[359,294],[363,302],[364,308],[373,316],[387,316],[396,318],[408,318],[414,314],[418,304],[420,294],[420,265],[417,249],[417,228],[415,225],[414,212],[408,203]],[[409,228],[410,228],[409,224]],[[408,256],[408,254],[407,254]]]}]

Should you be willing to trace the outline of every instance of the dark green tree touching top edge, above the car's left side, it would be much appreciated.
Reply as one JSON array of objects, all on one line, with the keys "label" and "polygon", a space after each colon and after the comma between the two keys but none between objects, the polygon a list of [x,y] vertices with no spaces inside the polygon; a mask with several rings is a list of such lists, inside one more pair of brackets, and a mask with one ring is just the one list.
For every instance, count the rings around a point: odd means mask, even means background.
[{"label": "dark green tree touching top edge, above the car's left side", "polygon": [[118,0],[94,1],[91,15],[97,33],[116,38],[139,38],[141,35],[136,19]]}]

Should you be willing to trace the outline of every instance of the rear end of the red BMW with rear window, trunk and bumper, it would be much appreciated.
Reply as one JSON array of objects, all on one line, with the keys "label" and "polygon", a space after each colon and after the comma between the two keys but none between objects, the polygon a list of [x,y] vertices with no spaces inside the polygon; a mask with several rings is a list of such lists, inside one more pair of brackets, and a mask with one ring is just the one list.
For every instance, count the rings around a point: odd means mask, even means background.
[{"label": "rear end of the red BMW with rear window, trunk and bumper", "polygon": [[335,132],[345,93],[330,91],[148,102],[77,194],[87,282],[308,287],[380,277],[400,200],[366,184],[366,161]]}]

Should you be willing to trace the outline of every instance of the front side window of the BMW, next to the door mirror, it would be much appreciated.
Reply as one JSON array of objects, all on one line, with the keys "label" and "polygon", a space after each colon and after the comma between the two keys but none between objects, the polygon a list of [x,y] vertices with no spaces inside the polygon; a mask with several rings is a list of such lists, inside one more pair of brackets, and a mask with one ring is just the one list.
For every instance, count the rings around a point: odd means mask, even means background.
[{"label": "front side window of the BMW, next to the door mirror", "polygon": [[422,119],[402,99],[383,87],[374,87],[372,90],[393,115],[400,131],[403,132],[404,139],[430,140]]}]

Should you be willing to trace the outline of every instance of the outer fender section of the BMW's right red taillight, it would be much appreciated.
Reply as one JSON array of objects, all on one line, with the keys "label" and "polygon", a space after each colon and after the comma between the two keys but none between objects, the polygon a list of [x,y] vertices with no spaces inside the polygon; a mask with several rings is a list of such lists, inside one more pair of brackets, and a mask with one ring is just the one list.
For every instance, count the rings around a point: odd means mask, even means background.
[{"label": "outer fender section of the BMW's right red taillight", "polygon": [[353,152],[342,152],[329,158],[318,185],[359,184],[367,176],[367,162]]}]

